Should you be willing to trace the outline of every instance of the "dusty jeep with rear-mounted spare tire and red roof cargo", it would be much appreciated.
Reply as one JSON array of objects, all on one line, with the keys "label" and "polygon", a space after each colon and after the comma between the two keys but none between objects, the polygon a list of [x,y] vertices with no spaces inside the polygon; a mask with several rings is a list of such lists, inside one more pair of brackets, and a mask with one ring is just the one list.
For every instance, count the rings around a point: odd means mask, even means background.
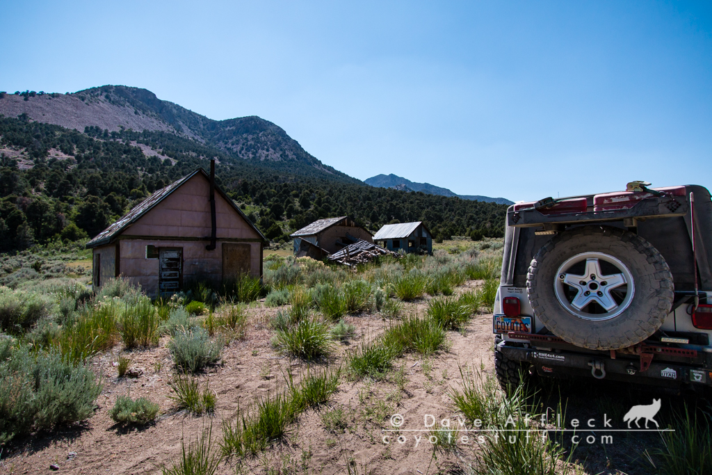
[{"label": "dusty jeep with rear-mounted spare tire and red roof cargo", "polygon": [[508,209],[493,314],[504,388],[529,372],[712,385],[710,193],[645,185]]}]

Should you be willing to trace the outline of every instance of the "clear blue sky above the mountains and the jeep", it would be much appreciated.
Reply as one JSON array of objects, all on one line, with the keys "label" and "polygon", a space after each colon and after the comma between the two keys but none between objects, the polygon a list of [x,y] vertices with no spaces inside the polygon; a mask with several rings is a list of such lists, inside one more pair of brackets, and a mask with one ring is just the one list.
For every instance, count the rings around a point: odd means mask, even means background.
[{"label": "clear blue sky above the mountains and the jeep", "polygon": [[460,194],[711,187],[711,5],[4,1],[0,90],[147,88]]}]

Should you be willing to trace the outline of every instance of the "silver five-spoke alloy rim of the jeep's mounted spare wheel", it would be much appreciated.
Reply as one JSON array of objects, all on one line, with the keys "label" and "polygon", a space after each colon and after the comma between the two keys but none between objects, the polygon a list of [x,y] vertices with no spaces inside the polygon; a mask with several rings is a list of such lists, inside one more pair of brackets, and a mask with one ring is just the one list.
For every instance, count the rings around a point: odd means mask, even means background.
[{"label": "silver five-spoke alloy rim of the jeep's mounted spare wheel", "polygon": [[602,252],[584,252],[559,266],[554,292],[572,315],[608,320],[628,308],[635,286],[632,273],[619,259]]}]

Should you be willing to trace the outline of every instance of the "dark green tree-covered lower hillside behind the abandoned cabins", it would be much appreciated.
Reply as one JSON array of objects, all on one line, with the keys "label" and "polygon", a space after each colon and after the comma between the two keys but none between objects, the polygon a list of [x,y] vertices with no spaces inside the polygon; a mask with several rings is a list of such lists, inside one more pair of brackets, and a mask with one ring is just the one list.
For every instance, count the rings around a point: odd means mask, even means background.
[{"label": "dark green tree-covered lower hillside behind the abandoned cabins", "polygon": [[[142,151],[152,150],[148,157]],[[167,132],[83,132],[0,118],[0,251],[92,237],[148,194],[219,162],[219,184],[269,239],[327,216],[372,230],[426,221],[436,239],[501,236],[506,206],[368,187],[288,161],[243,160]]]}]

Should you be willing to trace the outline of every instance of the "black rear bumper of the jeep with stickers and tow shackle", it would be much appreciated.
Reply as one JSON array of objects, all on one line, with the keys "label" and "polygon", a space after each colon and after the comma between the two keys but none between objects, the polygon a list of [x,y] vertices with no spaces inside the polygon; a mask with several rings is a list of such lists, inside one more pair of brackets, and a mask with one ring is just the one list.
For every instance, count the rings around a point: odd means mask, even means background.
[{"label": "black rear bumper of the jeep with stickers and tow shackle", "polygon": [[[637,357],[616,359],[602,355],[586,355],[570,351],[543,351],[522,348],[502,342],[500,350],[510,360],[528,362],[539,375],[548,377],[588,377],[591,379],[624,381],[657,387],[680,388],[712,386],[712,368],[679,362],[653,360],[648,370],[639,371]],[[594,373],[597,377],[594,376]]]}]

